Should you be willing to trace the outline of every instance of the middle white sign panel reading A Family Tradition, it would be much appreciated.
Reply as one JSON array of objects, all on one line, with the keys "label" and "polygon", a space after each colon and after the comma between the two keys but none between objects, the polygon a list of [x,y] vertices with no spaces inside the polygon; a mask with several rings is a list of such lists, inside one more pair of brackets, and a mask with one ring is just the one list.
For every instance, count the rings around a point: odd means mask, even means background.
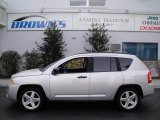
[{"label": "middle white sign panel reading A Family Tradition", "polygon": [[92,23],[104,24],[108,30],[134,30],[134,16],[131,15],[99,13],[79,13],[73,15],[73,29],[88,30]]}]

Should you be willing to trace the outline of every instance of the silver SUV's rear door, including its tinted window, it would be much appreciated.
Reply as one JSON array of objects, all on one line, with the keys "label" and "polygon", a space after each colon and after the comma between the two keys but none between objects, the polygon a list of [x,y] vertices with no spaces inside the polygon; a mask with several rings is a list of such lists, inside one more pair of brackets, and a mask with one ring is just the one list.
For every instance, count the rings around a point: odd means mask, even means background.
[{"label": "silver SUV's rear door, including its tinted window", "polygon": [[116,58],[93,58],[93,71],[90,76],[91,100],[112,100],[121,84],[123,75],[118,70]]}]

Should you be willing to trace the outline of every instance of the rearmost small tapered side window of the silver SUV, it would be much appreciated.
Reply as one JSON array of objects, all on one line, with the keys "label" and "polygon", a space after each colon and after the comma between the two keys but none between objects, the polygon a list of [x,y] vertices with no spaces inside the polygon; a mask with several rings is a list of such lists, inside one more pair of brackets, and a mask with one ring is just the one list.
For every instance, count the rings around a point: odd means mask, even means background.
[{"label": "rearmost small tapered side window of the silver SUV", "polygon": [[131,65],[132,61],[133,60],[130,58],[119,58],[121,71],[127,70],[129,68],[129,66]]}]

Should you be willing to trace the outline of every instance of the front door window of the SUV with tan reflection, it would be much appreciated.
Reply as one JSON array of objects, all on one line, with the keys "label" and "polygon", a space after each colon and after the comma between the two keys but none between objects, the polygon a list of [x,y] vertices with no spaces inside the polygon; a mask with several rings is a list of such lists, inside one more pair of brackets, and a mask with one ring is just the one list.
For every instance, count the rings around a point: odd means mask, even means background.
[{"label": "front door window of the SUV with tan reflection", "polygon": [[63,68],[63,73],[87,72],[87,63],[87,58],[75,58],[63,63],[59,67]]}]

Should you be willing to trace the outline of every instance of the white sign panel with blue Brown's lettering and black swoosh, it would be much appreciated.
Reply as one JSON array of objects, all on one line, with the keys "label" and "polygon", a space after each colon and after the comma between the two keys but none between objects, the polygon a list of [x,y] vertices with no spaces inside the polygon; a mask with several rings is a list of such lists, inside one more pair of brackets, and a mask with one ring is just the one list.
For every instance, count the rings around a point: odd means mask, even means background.
[{"label": "white sign panel with blue Brown's lettering and black swoosh", "polygon": [[72,29],[72,15],[65,14],[8,14],[8,30],[45,30],[56,22],[59,29]]}]

